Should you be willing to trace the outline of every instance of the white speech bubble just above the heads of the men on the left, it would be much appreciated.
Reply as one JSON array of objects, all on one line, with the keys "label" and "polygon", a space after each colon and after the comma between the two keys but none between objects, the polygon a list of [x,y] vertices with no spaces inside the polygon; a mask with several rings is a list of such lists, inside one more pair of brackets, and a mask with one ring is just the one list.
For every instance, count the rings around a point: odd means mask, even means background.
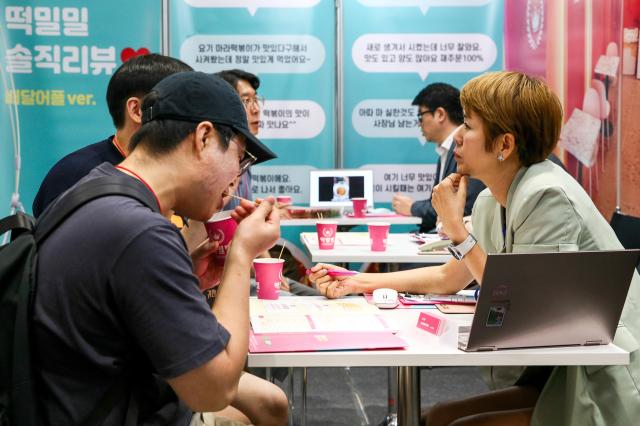
[{"label": "white speech bubble just above the heads of the men on the left", "polygon": [[208,73],[240,68],[256,74],[308,74],[324,58],[324,45],[309,35],[200,34],[180,46],[180,59]]}]

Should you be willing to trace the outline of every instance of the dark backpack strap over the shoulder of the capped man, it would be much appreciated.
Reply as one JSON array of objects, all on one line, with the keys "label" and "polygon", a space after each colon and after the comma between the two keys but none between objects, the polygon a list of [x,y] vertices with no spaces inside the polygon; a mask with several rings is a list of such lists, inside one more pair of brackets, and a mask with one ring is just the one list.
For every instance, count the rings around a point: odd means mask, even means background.
[{"label": "dark backpack strap over the shoulder of the capped man", "polygon": [[[46,214],[41,217],[50,216],[50,218],[42,228],[37,229],[36,243],[44,241],[54,229],[83,205],[109,195],[134,198],[154,212],[160,212],[155,196],[139,180],[130,176],[101,176],[74,187],[56,201],[55,207],[46,210]],[[38,219],[38,224],[40,222],[41,220]]]}]

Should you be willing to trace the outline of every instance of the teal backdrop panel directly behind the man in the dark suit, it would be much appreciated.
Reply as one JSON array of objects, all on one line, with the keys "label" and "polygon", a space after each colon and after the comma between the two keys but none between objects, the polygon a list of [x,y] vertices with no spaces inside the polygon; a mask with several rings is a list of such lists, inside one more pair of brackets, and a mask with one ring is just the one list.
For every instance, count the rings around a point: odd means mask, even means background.
[{"label": "teal backdrop panel directly behind the man in the dark suit", "polygon": [[350,0],[344,10],[344,166],[374,171],[376,202],[424,199],[437,154],[415,95],[503,68],[502,0]]}]

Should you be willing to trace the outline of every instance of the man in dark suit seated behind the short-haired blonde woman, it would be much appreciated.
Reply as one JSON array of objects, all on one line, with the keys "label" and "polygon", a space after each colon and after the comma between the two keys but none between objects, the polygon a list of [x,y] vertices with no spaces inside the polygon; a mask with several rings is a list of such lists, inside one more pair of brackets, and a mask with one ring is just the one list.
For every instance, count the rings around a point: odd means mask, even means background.
[{"label": "man in dark suit seated behind the short-haired blonde woman", "polygon": [[[457,169],[453,158],[453,135],[463,122],[460,91],[450,84],[433,83],[422,89],[411,105],[418,106],[418,122],[422,134],[428,142],[436,145],[439,157],[433,183],[436,186]],[[484,185],[479,180],[469,181],[465,216],[471,214],[473,203],[483,189]],[[438,215],[431,206],[431,197],[413,201],[411,197],[396,194],[391,205],[398,214],[421,217],[420,232],[429,232],[436,227]]]}]

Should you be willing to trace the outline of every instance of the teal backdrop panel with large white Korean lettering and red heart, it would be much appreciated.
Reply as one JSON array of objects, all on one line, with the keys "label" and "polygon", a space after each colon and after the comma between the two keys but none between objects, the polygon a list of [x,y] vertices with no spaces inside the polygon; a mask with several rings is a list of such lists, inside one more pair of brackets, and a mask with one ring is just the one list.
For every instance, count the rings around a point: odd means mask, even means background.
[{"label": "teal backdrop panel with large white Korean lettering and red heart", "polygon": [[160,51],[161,1],[1,0],[0,14],[4,216],[16,189],[31,211],[55,162],[114,133],[107,83],[123,59]]}]

